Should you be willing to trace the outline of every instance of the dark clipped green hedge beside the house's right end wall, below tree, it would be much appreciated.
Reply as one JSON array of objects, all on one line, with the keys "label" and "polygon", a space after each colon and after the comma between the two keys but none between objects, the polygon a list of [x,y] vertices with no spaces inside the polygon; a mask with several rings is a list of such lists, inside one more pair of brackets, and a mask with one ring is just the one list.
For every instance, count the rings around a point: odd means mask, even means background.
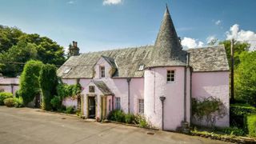
[{"label": "dark clipped green hedge beside the house's right end wall, below tree", "polygon": [[230,126],[238,126],[246,130],[246,116],[256,114],[256,108],[245,104],[230,105]]}]

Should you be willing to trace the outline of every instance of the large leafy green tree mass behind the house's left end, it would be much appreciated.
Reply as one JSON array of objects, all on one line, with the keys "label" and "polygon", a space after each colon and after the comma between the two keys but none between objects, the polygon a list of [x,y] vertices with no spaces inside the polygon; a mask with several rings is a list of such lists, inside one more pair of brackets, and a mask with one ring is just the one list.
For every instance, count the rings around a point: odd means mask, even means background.
[{"label": "large leafy green tree mass behind the house's left end", "polygon": [[0,26],[0,73],[15,77],[30,59],[61,66],[64,48],[50,38],[26,34],[14,27]]}]

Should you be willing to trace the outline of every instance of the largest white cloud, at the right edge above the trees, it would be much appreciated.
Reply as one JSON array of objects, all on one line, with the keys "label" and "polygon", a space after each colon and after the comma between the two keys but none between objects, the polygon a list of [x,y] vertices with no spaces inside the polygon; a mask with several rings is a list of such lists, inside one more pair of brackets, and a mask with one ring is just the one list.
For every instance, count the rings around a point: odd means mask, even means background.
[{"label": "largest white cloud, at the right edge above the trees", "polygon": [[230,31],[226,32],[226,39],[230,40],[234,38],[239,42],[250,43],[250,50],[256,50],[256,34],[250,30],[239,30],[239,25],[234,24],[230,27]]}]

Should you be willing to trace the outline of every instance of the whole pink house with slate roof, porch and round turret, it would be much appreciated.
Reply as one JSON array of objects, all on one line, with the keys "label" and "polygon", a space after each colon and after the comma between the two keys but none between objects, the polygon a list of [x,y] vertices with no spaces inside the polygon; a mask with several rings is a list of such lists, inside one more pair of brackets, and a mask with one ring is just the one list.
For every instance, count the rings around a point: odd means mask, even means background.
[{"label": "whole pink house with slate roof, porch and round turret", "polygon": [[[168,8],[154,46],[79,54],[73,42],[58,76],[68,84],[81,84],[81,100],[67,98],[63,104],[81,105],[86,118],[105,119],[111,110],[122,109],[145,115],[159,129],[177,130],[182,122],[197,123],[191,98],[220,98],[229,108],[224,46],[183,50]],[[229,126],[229,113],[216,126]]]}]

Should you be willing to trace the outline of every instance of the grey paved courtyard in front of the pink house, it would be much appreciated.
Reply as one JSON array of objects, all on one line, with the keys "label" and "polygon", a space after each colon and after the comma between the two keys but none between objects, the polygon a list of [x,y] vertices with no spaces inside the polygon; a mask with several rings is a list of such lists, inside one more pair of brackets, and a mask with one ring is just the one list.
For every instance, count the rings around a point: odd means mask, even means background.
[{"label": "grey paved courtyard in front of the pink house", "polygon": [[[154,135],[148,134],[149,132]],[[61,114],[43,113],[37,109],[0,106],[0,143],[200,144],[225,142],[114,123],[88,122]]]}]

